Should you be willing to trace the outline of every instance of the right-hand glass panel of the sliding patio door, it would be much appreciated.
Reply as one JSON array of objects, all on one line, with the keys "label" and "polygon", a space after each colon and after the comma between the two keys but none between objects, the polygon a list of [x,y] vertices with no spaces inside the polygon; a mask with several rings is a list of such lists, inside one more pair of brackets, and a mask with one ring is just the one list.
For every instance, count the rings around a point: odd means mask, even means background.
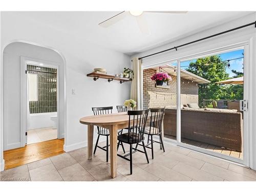
[{"label": "right-hand glass panel of the sliding patio door", "polygon": [[247,164],[245,47],[178,61],[179,145]]}]

